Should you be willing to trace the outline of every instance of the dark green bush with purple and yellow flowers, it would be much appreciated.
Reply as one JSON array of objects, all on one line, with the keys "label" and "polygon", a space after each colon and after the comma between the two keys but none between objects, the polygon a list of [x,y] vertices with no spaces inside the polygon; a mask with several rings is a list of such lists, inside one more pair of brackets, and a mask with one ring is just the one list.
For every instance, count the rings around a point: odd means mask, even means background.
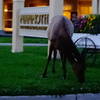
[{"label": "dark green bush with purple and yellow flowers", "polygon": [[100,33],[100,15],[80,16],[75,24],[75,32],[77,33]]}]

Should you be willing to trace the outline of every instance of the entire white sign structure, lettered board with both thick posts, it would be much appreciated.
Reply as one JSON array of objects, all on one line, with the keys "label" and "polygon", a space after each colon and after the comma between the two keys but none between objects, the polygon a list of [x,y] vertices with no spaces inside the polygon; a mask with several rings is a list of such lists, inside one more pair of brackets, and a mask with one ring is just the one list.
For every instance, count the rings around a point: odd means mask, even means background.
[{"label": "entire white sign structure, lettered board with both thick posts", "polygon": [[47,37],[48,23],[63,14],[63,4],[63,0],[49,0],[48,7],[24,8],[24,0],[13,0],[12,52],[23,52],[24,36]]}]

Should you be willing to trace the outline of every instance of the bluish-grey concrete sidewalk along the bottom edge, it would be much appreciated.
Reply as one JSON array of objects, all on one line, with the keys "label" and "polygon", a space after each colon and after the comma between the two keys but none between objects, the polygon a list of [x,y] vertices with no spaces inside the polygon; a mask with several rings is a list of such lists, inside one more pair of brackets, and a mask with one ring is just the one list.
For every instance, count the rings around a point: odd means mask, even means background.
[{"label": "bluish-grey concrete sidewalk along the bottom edge", "polygon": [[100,93],[72,94],[64,96],[1,96],[0,100],[100,100]]}]

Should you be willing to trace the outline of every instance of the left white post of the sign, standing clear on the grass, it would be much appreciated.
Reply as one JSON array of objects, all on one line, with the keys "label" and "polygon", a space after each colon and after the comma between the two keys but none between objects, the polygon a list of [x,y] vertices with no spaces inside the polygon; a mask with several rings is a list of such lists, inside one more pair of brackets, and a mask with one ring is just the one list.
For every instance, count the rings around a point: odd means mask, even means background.
[{"label": "left white post of the sign, standing clear on the grass", "polygon": [[13,0],[13,33],[12,33],[12,52],[23,51],[23,37],[19,36],[19,11],[24,7],[25,0]]}]

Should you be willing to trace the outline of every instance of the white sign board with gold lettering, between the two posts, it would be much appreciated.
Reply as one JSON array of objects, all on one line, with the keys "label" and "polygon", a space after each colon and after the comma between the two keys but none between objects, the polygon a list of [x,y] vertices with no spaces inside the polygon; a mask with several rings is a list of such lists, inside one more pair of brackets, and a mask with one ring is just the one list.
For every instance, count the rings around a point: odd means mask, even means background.
[{"label": "white sign board with gold lettering, between the two posts", "polygon": [[47,37],[48,7],[23,8],[19,14],[19,35]]}]

